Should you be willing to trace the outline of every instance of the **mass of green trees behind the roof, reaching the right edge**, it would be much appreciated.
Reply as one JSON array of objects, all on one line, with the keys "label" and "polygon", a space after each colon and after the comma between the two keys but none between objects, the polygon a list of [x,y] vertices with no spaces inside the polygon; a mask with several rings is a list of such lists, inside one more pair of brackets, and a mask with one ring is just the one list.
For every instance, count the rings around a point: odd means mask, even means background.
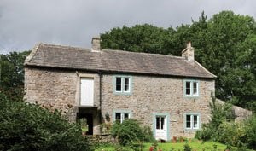
[{"label": "mass of green trees behind the roof, reaching the right edge", "polygon": [[256,24],[251,16],[222,11],[207,20],[202,12],[191,25],[116,27],[101,38],[103,49],[165,55],[181,55],[191,41],[196,61],[218,76],[216,96],[256,110]]}]

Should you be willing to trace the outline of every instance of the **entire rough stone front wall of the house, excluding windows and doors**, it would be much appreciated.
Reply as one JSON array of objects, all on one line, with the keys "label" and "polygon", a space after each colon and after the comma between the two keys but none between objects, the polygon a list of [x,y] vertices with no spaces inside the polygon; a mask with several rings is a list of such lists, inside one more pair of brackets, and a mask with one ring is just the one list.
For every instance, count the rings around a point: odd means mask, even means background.
[{"label": "entire rough stone front wall of the house, excluding windows and doors", "polygon": [[[214,81],[200,79],[200,96],[183,96],[183,78],[167,78],[132,75],[131,95],[113,93],[113,75],[102,76],[102,121],[113,122],[114,110],[129,110],[131,118],[140,120],[143,125],[153,127],[154,113],[167,113],[170,116],[169,138],[172,136],[191,137],[195,131],[183,131],[183,114],[199,113],[201,124],[210,119],[208,104]],[[44,107],[57,108],[75,121],[79,107],[80,78],[94,78],[94,104],[100,109],[99,75],[77,71],[25,68],[25,91],[27,102],[38,102]],[[107,118],[107,115],[108,118]],[[99,115],[94,113],[94,134],[100,133]]]}]

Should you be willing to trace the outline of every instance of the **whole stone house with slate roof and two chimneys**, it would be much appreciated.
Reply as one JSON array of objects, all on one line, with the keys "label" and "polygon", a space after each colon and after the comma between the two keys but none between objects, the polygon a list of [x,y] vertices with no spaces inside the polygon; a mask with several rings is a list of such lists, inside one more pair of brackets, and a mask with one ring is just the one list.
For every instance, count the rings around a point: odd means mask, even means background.
[{"label": "whole stone house with slate roof and two chimneys", "polygon": [[101,125],[138,119],[156,139],[191,137],[210,119],[214,78],[194,60],[191,44],[182,56],[38,44],[25,61],[26,101],[57,108],[75,121],[86,118],[88,134]]}]

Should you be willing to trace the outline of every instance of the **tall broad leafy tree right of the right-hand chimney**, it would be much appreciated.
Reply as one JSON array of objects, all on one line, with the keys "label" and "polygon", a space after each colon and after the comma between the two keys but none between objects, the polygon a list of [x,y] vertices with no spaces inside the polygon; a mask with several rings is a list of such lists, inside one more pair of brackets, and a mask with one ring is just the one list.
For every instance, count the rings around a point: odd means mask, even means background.
[{"label": "tall broad leafy tree right of the right-hand chimney", "polygon": [[249,54],[255,51],[251,38],[255,33],[255,21],[250,16],[235,15],[232,11],[213,15],[207,25],[207,43],[202,47],[199,58],[218,76],[216,96],[223,100],[231,99],[242,107],[248,107],[256,100],[253,95],[256,94],[253,62],[248,62],[253,61],[253,55]]}]

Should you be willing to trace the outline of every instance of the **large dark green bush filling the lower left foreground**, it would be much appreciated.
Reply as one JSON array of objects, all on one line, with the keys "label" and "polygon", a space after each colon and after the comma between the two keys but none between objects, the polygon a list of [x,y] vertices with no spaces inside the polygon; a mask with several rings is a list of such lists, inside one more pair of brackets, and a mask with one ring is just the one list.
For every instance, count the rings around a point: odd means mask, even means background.
[{"label": "large dark green bush filling the lower left foreground", "polygon": [[79,125],[61,113],[0,93],[0,150],[90,150]]}]

